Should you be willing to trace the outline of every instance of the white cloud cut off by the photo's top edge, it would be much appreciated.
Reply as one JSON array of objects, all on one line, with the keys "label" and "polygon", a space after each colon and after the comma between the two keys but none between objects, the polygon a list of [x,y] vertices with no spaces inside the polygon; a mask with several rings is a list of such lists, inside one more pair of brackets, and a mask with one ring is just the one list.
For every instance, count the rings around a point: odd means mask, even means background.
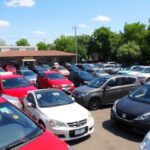
[{"label": "white cloud cut off by the photo's top edge", "polygon": [[10,7],[33,7],[35,0],[6,0],[5,4]]}]

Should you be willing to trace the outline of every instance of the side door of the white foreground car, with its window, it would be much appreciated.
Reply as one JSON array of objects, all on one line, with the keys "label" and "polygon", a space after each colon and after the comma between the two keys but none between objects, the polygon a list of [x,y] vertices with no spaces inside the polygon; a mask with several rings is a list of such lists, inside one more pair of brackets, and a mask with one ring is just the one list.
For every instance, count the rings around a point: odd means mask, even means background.
[{"label": "side door of the white foreground car, with its window", "polygon": [[[31,103],[32,106],[29,106],[28,103]],[[39,120],[39,112],[37,109],[37,104],[34,98],[34,95],[30,93],[27,98],[24,100],[25,110],[28,112],[29,116],[31,116],[34,120]]]}]

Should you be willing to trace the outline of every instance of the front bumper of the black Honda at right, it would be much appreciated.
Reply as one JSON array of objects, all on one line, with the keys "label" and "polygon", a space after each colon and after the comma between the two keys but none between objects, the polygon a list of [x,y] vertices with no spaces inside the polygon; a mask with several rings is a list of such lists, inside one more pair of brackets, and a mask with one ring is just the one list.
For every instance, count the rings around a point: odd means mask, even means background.
[{"label": "front bumper of the black Honda at right", "polygon": [[117,125],[127,129],[131,130],[137,134],[145,134],[150,130],[150,124],[144,123],[143,121],[137,121],[137,120],[126,120],[121,117],[119,117],[113,109],[111,109],[111,120],[115,121]]}]

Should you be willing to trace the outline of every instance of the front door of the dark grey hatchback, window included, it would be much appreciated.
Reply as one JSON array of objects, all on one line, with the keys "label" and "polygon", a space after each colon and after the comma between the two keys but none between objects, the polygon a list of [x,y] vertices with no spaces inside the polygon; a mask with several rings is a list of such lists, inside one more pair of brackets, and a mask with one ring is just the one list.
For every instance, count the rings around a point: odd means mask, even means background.
[{"label": "front door of the dark grey hatchback, window included", "polygon": [[122,92],[120,78],[110,79],[103,88],[102,102],[103,104],[113,103],[120,98]]}]

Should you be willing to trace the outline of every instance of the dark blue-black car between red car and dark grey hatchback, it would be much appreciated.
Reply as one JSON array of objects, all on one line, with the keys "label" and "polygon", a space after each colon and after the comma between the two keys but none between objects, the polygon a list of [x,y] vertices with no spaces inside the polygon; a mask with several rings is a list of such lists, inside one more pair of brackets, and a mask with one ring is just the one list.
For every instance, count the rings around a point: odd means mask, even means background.
[{"label": "dark blue-black car between red car and dark grey hatchback", "polygon": [[71,71],[69,79],[74,83],[75,86],[87,84],[95,79],[93,75],[86,71]]}]

